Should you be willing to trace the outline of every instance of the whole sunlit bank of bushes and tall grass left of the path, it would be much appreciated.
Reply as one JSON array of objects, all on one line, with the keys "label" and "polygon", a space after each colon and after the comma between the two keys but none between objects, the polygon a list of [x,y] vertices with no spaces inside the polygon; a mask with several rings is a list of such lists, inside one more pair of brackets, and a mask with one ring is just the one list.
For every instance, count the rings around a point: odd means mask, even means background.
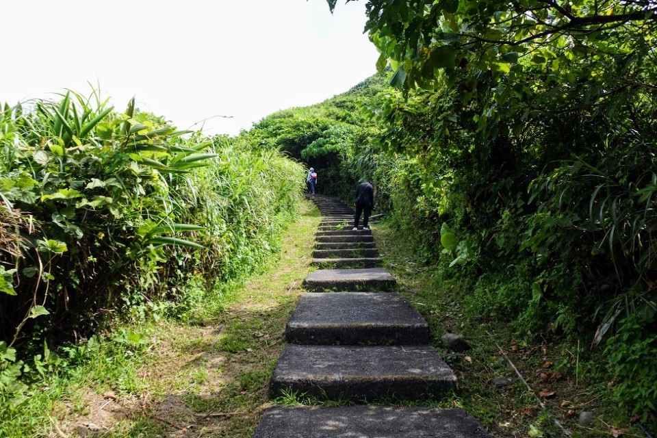
[{"label": "whole sunlit bank of bushes and tall grass left of the path", "polygon": [[207,295],[276,252],[302,188],[276,150],[176,131],[133,101],[61,97],[0,112],[2,415],[113,322],[216,311]]}]

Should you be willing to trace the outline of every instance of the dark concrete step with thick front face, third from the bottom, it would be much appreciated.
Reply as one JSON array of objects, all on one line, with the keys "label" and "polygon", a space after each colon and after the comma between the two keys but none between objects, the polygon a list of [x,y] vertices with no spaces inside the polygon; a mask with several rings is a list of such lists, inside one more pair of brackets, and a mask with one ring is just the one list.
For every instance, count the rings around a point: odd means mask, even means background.
[{"label": "dark concrete step with thick front face, third from the bottom", "polygon": [[428,325],[394,292],[304,294],[285,338],[305,345],[423,345]]}]

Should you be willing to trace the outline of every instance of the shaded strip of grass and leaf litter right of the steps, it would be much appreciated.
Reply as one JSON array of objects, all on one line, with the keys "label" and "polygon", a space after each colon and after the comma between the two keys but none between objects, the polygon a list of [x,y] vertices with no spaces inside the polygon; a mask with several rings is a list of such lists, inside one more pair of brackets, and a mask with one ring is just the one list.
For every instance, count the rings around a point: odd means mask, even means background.
[{"label": "shaded strip of grass and leaf litter right of the steps", "polygon": [[[493,437],[642,436],[632,425],[636,418],[613,400],[600,350],[563,337],[526,339],[500,318],[472,311],[465,293],[472,281],[446,280],[391,225],[374,225],[385,267],[427,320],[430,343],[459,376],[459,390],[431,406],[465,409]],[[471,348],[450,350],[441,341],[445,333],[463,335]],[[593,414],[590,423],[579,421],[582,412]]]}]

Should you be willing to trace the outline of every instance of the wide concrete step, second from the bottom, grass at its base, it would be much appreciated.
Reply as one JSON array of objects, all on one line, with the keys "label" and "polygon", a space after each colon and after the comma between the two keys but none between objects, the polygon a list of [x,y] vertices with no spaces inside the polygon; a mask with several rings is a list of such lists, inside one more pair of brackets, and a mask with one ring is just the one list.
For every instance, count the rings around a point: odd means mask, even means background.
[{"label": "wide concrete step, second from the bottom, grass at its base", "polygon": [[367,402],[440,398],[456,376],[430,346],[287,345],[270,381],[272,397],[297,391],[317,398]]}]

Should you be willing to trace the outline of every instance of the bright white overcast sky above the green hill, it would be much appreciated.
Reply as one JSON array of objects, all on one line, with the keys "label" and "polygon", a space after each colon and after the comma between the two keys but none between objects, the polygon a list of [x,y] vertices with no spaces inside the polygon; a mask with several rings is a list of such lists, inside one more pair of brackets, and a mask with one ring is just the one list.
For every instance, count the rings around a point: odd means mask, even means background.
[{"label": "bright white overcast sky above the green hill", "polygon": [[325,0],[3,1],[0,102],[99,83],[116,110],[136,96],[179,129],[236,135],[374,74],[364,3],[331,15]]}]

